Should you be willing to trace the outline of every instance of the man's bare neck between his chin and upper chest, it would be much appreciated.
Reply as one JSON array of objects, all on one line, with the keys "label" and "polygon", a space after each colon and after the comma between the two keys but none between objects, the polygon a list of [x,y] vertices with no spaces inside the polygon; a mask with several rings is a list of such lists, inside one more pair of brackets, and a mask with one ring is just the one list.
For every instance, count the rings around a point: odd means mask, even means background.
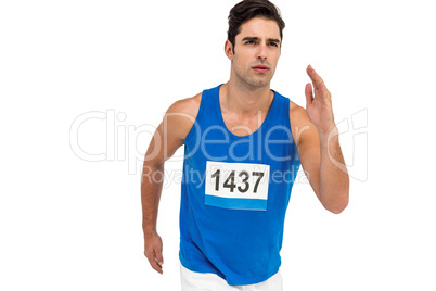
[{"label": "man's bare neck between his chin and upper chest", "polygon": [[270,85],[253,87],[247,84],[238,84],[232,78],[220,88],[221,110],[240,115],[254,117],[259,111],[266,115],[273,98]]}]

